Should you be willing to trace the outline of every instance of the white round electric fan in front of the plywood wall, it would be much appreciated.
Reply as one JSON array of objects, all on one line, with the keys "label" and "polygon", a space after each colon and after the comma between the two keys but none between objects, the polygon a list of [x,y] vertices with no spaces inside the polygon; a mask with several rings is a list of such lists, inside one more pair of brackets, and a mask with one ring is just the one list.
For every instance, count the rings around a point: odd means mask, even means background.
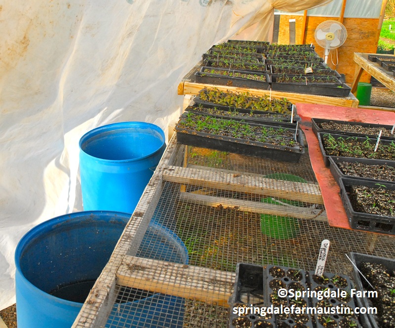
[{"label": "white round electric fan in front of the plywood wall", "polygon": [[343,24],[334,20],[327,20],[319,24],[314,33],[316,42],[325,49],[325,64],[329,51],[340,47],[347,39],[347,30]]}]

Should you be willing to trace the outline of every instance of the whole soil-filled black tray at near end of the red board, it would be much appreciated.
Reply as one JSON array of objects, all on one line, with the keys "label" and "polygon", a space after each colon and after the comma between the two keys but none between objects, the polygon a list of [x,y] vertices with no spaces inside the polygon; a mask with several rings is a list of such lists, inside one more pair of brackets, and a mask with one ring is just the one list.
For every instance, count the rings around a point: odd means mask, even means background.
[{"label": "whole soil-filled black tray at near end of the red board", "polygon": [[395,183],[349,178],[339,182],[351,228],[395,235]]}]

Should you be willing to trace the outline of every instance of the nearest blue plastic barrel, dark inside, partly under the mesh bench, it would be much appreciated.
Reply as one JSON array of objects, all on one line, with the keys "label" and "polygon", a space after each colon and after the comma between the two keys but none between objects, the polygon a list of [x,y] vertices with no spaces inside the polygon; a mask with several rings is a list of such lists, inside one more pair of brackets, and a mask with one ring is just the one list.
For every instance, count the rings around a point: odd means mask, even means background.
[{"label": "nearest blue plastic barrel, dark inside, partly under the mesh bench", "polygon": [[[84,211],[53,218],[30,230],[15,252],[18,328],[70,328],[129,218],[127,213]],[[138,255],[188,263],[182,241],[156,223],[150,223]],[[129,307],[130,311],[119,319],[112,314],[114,324],[106,327],[118,327],[116,322],[132,321],[133,316],[139,322],[133,327],[147,327],[145,320],[152,320],[145,317],[147,313],[160,320],[158,327],[162,327],[161,322],[182,327],[183,298],[144,292],[139,295],[116,304],[115,310]]]}]

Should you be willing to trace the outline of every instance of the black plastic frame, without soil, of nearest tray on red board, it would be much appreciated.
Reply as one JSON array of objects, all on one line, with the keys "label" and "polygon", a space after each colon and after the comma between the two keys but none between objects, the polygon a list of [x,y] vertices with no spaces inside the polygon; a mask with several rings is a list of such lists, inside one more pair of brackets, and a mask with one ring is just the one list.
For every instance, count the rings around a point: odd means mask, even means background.
[{"label": "black plastic frame, without soil, of nearest tray on red board", "polygon": [[[340,178],[340,197],[346,210],[347,217],[352,229],[371,231],[382,234],[395,235],[395,217],[357,212],[354,210],[349,199],[351,186],[368,186],[378,188],[377,182],[349,178]],[[386,190],[395,190],[395,183],[380,183]]]}]

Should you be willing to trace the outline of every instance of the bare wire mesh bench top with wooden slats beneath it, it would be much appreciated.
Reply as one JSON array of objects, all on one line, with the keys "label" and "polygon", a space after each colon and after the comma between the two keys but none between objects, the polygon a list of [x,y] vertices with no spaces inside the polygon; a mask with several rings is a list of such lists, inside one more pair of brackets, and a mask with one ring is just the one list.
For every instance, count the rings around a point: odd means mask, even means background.
[{"label": "bare wire mesh bench top with wooden slats beneath it", "polygon": [[[171,151],[155,173],[162,177],[158,203],[136,256],[114,263],[118,296],[105,327],[227,327],[225,295],[237,262],[314,270],[323,239],[331,242],[327,272],[350,276],[350,251],[395,255],[394,237],[328,225],[323,205],[314,202],[308,153],[286,164],[185,147],[175,138]],[[229,181],[238,177],[249,185],[234,188]],[[273,196],[254,186],[259,179],[283,182],[269,185]],[[292,183],[311,191],[313,201],[295,199]]]}]

